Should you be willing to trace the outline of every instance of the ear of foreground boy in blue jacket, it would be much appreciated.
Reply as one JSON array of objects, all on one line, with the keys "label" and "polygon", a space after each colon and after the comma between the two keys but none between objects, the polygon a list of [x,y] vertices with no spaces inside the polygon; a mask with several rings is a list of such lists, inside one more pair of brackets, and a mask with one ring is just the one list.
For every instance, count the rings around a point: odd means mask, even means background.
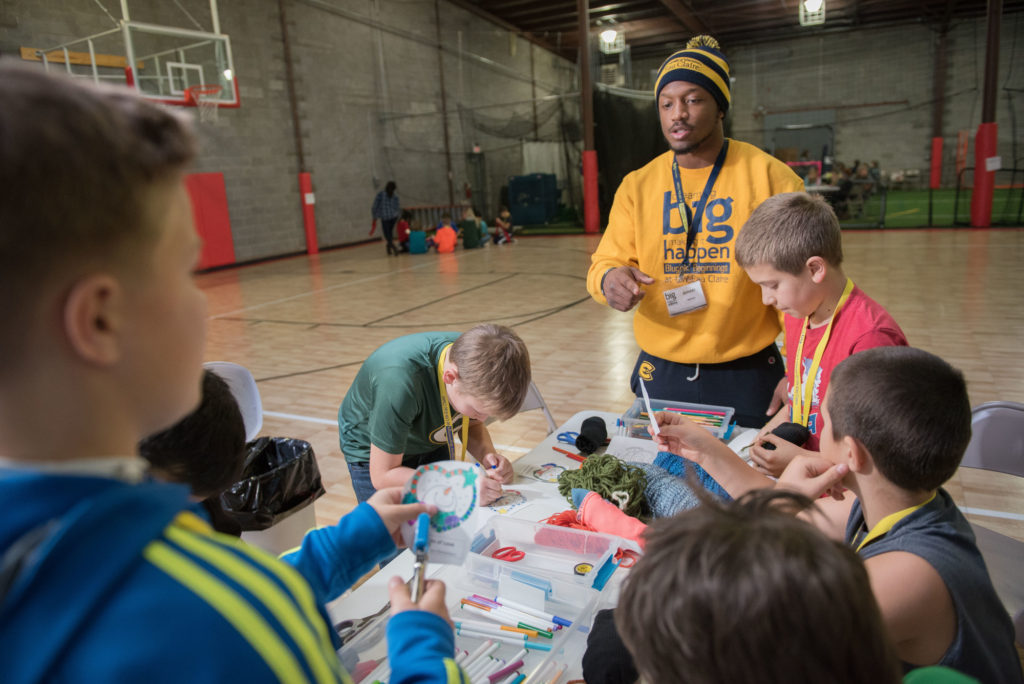
[{"label": "ear of foreground boy in blue jacket", "polygon": [[110,366],[121,357],[120,307],[123,292],[105,273],[76,282],[63,303],[63,329],[72,351],[96,366]]}]

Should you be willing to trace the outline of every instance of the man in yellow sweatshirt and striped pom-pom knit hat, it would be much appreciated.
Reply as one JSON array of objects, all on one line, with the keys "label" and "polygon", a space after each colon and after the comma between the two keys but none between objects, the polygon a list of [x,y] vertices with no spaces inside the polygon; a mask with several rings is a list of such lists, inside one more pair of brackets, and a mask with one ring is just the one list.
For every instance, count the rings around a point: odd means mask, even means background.
[{"label": "man in yellow sweatshirt and striped pom-pom knit hat", "polygon": [[733,247],[761,202],[804,184],[725,137],[729,62],[714,38],[696,36],[662,65],[654,99],[671,149],[623,179],[587,290],[620,311],[637,307],[635,393],[641,377],[653,397],[734,407],[740,425],[761,426],[783,378],[779,318]]}]

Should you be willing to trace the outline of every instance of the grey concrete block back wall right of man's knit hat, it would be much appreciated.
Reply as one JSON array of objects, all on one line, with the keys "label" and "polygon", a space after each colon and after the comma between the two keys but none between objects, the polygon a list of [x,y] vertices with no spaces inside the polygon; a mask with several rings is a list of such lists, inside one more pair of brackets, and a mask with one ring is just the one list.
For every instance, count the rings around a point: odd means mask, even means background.
[{"label": "grey concrete block back wall right of man's knit hat", "polygon": [[[996,120],[1006,167],[1013,165],[1011,124],[1016,120],[1024,125],[1024,96],[1013,93],[1024,89],[1024,70],[1014,68],[1015,58],[1018,62],[1024,58],[1024,43],[1014,40],[1022,31],[1024,13],[1004,15]],[[734,77],[730,115],[734,137],[769,145],[766,115],[788,114],[793,123],[799,123],[808,113],[830,111],[838,160],[846,164],[878,160],[883,170],[913,168],[927,178],[937,49],[932,29],[905,25],[725,47]],[[981,122],[984,17],[952,26],[947,55],[943,183],[952,185],[956,133],[967,130],[973,140]],[[642,87],[648,87],[651,70],[663,59],[635,62],[635,77],[643,80]],[[1018,154],[1024,155],[1022,130],[1017,138]],[[973,145],[969,160],[973,165]]]}]

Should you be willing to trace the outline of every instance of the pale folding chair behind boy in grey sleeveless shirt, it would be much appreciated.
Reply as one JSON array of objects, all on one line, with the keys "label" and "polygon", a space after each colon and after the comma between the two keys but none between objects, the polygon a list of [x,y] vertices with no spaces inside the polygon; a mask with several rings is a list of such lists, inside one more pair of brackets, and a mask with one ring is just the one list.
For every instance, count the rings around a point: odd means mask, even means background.
[{"label": "pale folding chair behind boy in grey sleeveless shirt", "polygon": [[[1024,477],[1024,403],[990,401],[971,411],[971,441],[962,468]],[[995,591],[1024,645],[1024,543],[971,523]]]}]

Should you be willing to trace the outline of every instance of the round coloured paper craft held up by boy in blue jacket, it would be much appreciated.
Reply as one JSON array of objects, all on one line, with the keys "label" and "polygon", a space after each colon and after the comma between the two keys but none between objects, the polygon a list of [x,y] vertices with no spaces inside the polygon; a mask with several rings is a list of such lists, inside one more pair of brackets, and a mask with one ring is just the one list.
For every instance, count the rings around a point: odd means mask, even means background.
[{"label": "round coloured paper craft held up by boy in blue jacket", "polygon": [[[420,466],[406,483],[401,503],[437,507],[430,516],[431,562],[461,563],[465,559],[470,541],[467,529],[471,529],[466,523],[476,511],[480,477],[480,467],[475,463],[439,461]],[[413,521],[401,526],[407,546],[412,545],[415,532]]]}]

